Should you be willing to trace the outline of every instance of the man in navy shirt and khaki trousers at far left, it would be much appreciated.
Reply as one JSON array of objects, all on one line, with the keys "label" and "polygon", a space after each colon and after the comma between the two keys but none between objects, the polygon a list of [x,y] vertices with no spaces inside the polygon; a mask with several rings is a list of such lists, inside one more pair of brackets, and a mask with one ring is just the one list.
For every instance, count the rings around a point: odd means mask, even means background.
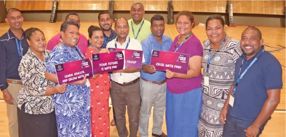
[{"label": "man in navy shirt and khaki trousers at far left", "polygon": [[23,35],[20,11],[8,9],[5,21],[10,29],[0,37],[0,89],[6,102],[10,137],[18,137],[16,99],[22,88],[18,67],[29,46]]}]

